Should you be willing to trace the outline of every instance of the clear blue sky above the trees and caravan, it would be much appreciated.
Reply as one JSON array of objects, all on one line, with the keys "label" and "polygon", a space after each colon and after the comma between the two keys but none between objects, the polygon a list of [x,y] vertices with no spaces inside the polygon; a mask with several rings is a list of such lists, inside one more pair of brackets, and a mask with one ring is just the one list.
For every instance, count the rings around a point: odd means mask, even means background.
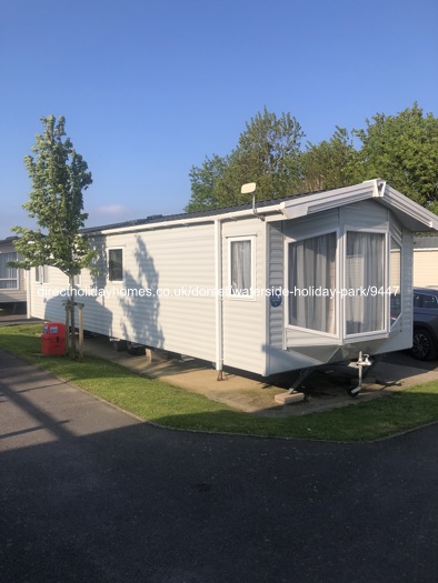
[{"label": "clear blue sky above the trees and caravan", "polygon": [[40,118],[93,174],[88,225],[181,212],[189,171],[265,107],[307,140],[418,101],[438,115],[437,0],[0,0],[0,239],[31,224]]}]

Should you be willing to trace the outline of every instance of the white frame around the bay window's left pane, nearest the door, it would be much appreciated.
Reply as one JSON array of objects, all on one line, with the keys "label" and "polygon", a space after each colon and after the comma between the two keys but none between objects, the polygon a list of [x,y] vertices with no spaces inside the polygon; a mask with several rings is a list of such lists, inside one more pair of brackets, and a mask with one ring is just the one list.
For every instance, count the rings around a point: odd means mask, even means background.
[{"label": "white frame around the bay window's left pane, nearest the door", "polygon": [[[308,239],[315,239],[317,237],[322,237],[326,234],[335,234],[336,237],[336,253],[335,253],[335,289],[336,291],[339,289],[339,279],[340,279],[340,231],[339,229],[328,228],[328,229],[321,229],[318,231],[312,231],[310,233],[306,233],[306,235],[302,237],[288,237],[285,239],[285,258],[286,258],[286,265],[287,269],[285,270],[285,290],[288,290],[289,292],[289,244],[290,243],[298,243],[300,241],[307,241]],[[335,295],[335,332],[323,332],[322,330],[315,330],[313,328],[303,328],[290,324],[289,320],[289,298],[286,298],[285,302],[285,322],[286,322],[286,329],[289,330],[300,330],[302,332],[306,332],[308,334],[316,334],[318,336],[327,336],[332,339],[339,339],[340,336],[340,330],[342,326],[339,325],[339,318],[340,318],[340,300],[339,300],[339,293],[336,293]]]}]

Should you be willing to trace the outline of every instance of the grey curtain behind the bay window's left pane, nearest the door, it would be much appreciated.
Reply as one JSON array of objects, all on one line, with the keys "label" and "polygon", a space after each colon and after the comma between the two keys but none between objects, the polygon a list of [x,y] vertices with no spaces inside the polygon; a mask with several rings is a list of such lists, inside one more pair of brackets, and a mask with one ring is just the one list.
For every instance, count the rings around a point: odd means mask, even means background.
[{"label": "grey curtain behind the bay window's left pane, nearest the door", "polygon": [[335,334],[335,291],[336,233],[289,243],[289,324]]}]

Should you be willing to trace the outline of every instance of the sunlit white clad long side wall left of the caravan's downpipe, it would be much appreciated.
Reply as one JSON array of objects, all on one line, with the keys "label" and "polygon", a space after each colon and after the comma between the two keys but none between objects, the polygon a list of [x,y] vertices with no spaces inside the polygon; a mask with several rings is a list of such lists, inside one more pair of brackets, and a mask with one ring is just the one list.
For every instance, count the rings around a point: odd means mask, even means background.
[{"label": "sunlit white clad long side wall left of the caravan's downpipe", "polygon": [[[212,224],[96,237],[100,272],[83,270],[78,285],[84,328],[213,361],[215,298],[200,291],[215,288],[213,237]],[[110,249],[122,249],[123,281],[108,280]],[[33,279],[32,285],[61,290],[68,281],[50,268],[49,283]],[[87,295],[86,290],[101,295]],[[34,300],[32,315],[63,319],[61,298]]]}]

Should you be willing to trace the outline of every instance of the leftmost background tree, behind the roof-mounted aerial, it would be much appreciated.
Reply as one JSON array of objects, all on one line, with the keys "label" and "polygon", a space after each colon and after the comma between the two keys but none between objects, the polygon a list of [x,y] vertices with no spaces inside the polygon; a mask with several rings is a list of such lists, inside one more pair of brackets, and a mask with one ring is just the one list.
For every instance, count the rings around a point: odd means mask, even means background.
[{"label": "leftmost background tree, behind the roof-mounted aerial", "polygon": [[303,138],[298,121],[289,113],[277,118],[266,108],[246,124],[238,145],[226,158],[207,158],[192,167],[191,199],[187,211],[247,202],[240,194],[246,182],[257,182],[258,198],[278,199],[297,192],[299,152]]}]

